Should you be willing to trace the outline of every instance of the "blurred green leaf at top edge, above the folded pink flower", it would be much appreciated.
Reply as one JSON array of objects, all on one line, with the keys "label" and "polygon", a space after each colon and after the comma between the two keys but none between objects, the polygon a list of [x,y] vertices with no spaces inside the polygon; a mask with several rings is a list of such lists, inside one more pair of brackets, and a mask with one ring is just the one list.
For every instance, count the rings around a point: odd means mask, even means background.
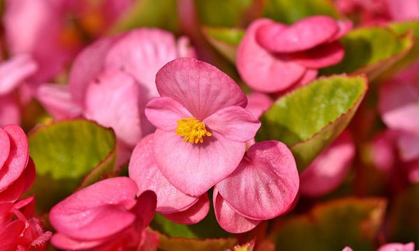
[{"label": "blurred green leaf at top edge, above the folded pink flower", "polygon": [[277,22],[292,24],[312,15],[338,17],[329,0],[267,0],[264,16]]}]

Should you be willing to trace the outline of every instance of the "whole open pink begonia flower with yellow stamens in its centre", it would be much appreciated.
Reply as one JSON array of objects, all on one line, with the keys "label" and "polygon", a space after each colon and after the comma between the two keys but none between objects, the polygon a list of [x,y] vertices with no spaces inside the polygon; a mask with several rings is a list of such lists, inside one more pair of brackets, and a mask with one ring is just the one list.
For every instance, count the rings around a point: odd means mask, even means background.
[{"label": "whole open pink begonia flower with yellow stamens in its centre", "polygon": [[175,188],[199,196],[231,174],[258,128],[239,86],[208,63],[175,59],[156,75],[161,98],[148,102],[153,155]]}]

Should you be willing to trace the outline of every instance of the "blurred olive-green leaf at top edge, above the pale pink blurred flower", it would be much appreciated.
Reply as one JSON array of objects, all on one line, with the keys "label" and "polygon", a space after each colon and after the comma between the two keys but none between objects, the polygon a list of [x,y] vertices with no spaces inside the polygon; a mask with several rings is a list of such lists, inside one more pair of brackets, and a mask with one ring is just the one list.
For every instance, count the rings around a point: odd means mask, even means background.
[{"label": "blurred olive-green leaf at top edge, above the pale pink blurred flower", "polygon": [[157,27],[177,32],[179,29],[177,0],[136,0],[110,29],[110,33],[138,27]]}]

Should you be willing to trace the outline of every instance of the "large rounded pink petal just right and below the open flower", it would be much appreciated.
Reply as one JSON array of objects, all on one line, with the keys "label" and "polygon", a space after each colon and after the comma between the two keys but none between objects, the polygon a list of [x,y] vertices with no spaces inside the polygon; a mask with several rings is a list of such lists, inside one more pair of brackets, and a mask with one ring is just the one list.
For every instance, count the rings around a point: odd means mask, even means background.
[{"label": "large rounded pink petal just right and below the open flower", "polygon": [[293,154],[285,144],[272,140],[253,144],[237,169],[216,188],[240,214],[265,220],[288,210],[299,183]]}]

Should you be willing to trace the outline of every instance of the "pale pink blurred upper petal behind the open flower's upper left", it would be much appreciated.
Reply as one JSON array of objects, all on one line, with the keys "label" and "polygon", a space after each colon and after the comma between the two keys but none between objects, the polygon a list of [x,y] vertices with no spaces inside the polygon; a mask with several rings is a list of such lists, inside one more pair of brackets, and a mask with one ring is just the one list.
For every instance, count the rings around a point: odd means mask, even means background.
[{"label": "pale pink blurred upper petal behind the open flower's upper left", "polygon": [[157,71],[177,58],[175,37],[160,29],[135,29],[110,48],[106,69],[124,69],[147,89],[147,98],[159,96],[154,79]]}]

